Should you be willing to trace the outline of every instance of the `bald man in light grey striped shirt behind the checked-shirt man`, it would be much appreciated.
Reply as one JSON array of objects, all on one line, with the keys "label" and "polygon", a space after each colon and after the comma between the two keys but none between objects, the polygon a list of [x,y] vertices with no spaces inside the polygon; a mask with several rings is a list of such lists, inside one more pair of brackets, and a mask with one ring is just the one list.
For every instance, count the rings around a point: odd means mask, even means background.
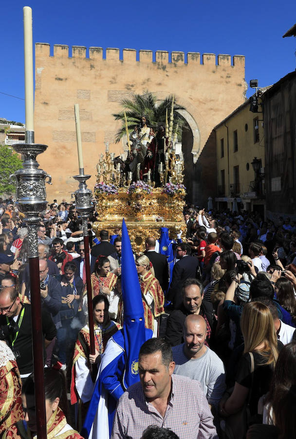
[{"label": "bald man in light grey striped shirt behind the checked-shirt man", "polygon": [[174,346],[174,373],[198,380],[215,415],[225,391],[225,371],[222,360],[204,344],[206,322],[201,315],[189,314],[183,326],[184,343]]}]

